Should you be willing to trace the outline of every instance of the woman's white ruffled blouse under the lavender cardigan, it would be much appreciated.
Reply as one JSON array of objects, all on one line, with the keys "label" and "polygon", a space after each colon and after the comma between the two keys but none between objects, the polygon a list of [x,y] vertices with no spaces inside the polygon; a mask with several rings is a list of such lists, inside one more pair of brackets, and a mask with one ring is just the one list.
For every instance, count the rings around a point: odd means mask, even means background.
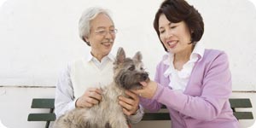
[{"label": "woman's white ruffled blouse under the lavender cardigan", "polygon": [[197,43],[195,45],[195,49],[189,57],[189,61],[183,65],[183,69],[180,71],[175,69],[173,66],[173,54],[168,53],[168,59],[164,61],[164,63],[168,65],[169,68],[167,68],[164,76],[170,79],[169,86],[172,88],[172,90],[180,90],[183,92],[186,89],[190,74],[192,73],[193,67],[195,66],[195,62],[201,61],[204,52],[205,49],[202,44]]}]

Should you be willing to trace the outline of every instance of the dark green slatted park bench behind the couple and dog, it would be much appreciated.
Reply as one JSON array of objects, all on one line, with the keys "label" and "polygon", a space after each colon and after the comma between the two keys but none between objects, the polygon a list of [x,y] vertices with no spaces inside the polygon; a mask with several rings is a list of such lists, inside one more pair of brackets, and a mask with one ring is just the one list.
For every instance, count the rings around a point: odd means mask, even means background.
[{"label": "dark green slatted park bench behind the couple and dog", "polygon": [[[243,98],[231,98],[230,106],[233,110],[236,119],[253,119],[253,113],[247,111],[238,111],[236,108],[253,108],[250,99]],[[49,127],[50,121],[55,121],[55,99],[46,98],[34,98],[32,99],[31,108],[46,108],[49,109],[49,113],[29,113],[28,121],[46,121],[45,128]],[[162,110],[157,113],[146,112],[143,116],[143,120],[170,120],[170,116],[166,107],[161,108]]]}]

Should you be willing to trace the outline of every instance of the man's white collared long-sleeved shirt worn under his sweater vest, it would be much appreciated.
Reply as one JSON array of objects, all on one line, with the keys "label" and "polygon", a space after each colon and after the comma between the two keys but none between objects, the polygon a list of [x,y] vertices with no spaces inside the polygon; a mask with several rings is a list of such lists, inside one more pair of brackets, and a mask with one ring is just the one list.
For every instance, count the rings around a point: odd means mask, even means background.
[{"label": "man's white collared long-sleeved shirt worn under his sweater vest", "polygon": [[[113,55],[107,55],[102,58],[102,61],[97,61],[97,59],[90,55],[87,59],[84,59],[84,62],[90,63],[95,69],[98,71],[105,70],[105,68],[109,67],[108,64],[113,64],[114,57]],[[113,67],[113,66],[112,66]],[[75,108],[75,101],[76,98],[74,94],[74,87],[73,87],[73,73],[71,70],[73,69],[73,63],[69,63],[67,68],[61,72],[61,75],[58,79],[56,90],[55,90],[55,114],[56,118],[60,117],[62,114],[66,113],[68,110],[72,110]],[[111,73],[113,73],[113,68],[111,68]],[[88,73],[89,74],[89,73]],[[112,75],[113,76],[113,75]],[[98,81],[98,76],[90,75],[90,80],[92,79]],[[86,79],[86,78],[85,78]],[[79,95],[79,94],[78,94]],[[77,96],[78,96],[77,95]],[[141,106],[140,106],[141,107]],[[128,117],[131,124],[139,122],[143,118],[143,108],[141,107],[137,114],[131,115]]]}]

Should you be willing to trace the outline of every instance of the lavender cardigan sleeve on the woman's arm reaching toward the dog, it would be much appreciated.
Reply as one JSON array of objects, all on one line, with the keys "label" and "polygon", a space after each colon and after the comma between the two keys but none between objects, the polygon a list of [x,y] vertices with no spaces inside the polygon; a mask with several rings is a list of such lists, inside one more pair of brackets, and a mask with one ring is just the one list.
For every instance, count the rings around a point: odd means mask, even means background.
[{"label": "lavender cardigan sleeve on the woman's arm reaching toward the dog", "polygon": [[212,120],[218,117],[232,92],[227,55],[221,52],[201,68],[204,77],[200,96],[189,96],[159,84],[154,100],[195,119]]}]

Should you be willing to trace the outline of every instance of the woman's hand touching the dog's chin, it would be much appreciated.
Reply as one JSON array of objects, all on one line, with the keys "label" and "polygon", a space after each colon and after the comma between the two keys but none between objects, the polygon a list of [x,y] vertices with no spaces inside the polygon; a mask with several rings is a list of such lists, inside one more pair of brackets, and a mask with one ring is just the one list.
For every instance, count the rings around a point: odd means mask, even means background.
[{"label": "woman's hand touching the dog's chin", "polygon": [[152,99],[157,89],[157,83],[150,80],[148,82],[143,81],[141,82],[141,84],[143,85],[143,89],[131,90],[131,91],[144,98]]}]

